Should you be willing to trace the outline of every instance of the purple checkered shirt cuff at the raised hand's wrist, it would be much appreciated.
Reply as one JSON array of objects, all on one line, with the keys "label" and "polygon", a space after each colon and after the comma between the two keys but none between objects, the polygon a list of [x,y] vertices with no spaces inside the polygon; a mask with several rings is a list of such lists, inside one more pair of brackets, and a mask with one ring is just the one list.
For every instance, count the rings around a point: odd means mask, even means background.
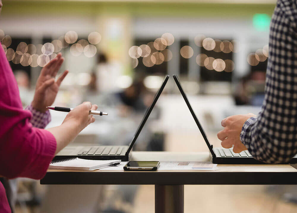
[{"label": "purple checkered shirt cuff at the raised hand's wrist", "polygon": [[32,113],[30,123],[36,128],[44,129],[45,126],[48,125],[48,123],[51,121],[49,110],[46,110],[45,113],[42,113],[34,109],[32,107],[32,104],[27,106],[25,109],[29,110]]}]

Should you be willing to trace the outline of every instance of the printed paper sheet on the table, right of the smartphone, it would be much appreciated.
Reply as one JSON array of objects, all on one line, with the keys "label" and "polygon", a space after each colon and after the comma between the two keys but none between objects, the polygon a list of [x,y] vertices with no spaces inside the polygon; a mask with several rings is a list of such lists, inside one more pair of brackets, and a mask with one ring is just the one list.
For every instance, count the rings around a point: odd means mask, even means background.
[{"label": "printed paper sheet on the table, right of the smartphone", "polygon": [[197,161],[160,161],[158,170],[217,170],[217,165]]}]

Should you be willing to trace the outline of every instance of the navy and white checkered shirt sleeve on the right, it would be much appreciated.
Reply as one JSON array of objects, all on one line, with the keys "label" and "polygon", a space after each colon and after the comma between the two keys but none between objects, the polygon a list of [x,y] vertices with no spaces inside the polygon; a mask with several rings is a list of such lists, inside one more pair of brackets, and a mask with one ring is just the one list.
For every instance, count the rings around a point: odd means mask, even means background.
[{"label": "navy and white checkered shirt sleeve on the right", "polygon": [[278,0],[270,23],[265,98],[240,140],[254,158],[289,161],[297,152],[297,1]]}]

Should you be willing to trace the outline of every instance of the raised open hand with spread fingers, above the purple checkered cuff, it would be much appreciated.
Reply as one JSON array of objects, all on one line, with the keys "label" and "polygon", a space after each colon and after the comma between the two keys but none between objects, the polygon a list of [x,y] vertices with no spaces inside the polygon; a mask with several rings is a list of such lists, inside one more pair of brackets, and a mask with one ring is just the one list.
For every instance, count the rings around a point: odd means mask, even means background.
[{"label": "raised open hand with spread fingers, above the purple checkered cuff", "polygon": [[62,54],[59,53],[57,57],[42,68],[40,76],[36,82],[34,99],[32,101],[32,106],[36,110],[45,112],[48,110],[46,107],[51,106],[54,103],[61,82],[68,73],[67,70],[64,71],[59,79],[55,81],[55,77],[61,68],[63,61],[64,58],[62,57]]}]

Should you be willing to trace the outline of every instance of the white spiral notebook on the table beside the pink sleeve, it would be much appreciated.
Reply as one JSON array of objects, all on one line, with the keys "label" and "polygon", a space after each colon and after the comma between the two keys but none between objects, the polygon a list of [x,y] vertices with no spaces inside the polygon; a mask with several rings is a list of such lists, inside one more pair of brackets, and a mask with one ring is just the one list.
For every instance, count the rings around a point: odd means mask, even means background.
[{"label": "white spiral notebook on the table beside the pink sleeve", "polygon": [[69,158],[65,160],[52,161],[49,169],[69,169],[92,171],[106,166],[120,164],[121,160],[86,160],[81,158]]}]

